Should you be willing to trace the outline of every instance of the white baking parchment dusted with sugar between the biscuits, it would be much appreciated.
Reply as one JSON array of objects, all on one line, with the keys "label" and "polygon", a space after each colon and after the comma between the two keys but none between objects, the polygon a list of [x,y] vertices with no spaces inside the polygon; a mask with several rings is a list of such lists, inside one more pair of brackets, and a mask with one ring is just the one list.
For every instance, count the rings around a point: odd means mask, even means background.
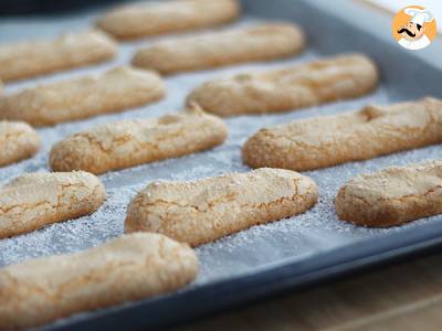
[{"label": "white baking parchment dusted with sugar between the biscuits", "polygon": [[[67,30],[87,29],[93,24],[94,17],[95,14],[83,13],[74,17],[64,15],[49,19],[1,19],[0,42],[52,38]],[[256,18],[243,17],[240,23],[233,25],[252,24],[259,21]],[[164,38],[166,36],[159,39]],[[6,93],[33,86],[36,83],[81,76],[85,73],[98,73],[116,65],[126,64],[130,61],[136,49],[148,43],[147,41],[141,41],[120,44],[118,58],[113,62],[9,84],[6,86]],[[320,57],[320,54],[307,47],[302,55],[290,60],[238,65],[167,77],[167,98],[157,104],[120,114],[105,115],[88,120],[39,129],[43,142],[42,150],[30,160],[1,168],[0,182],[6,183],[23,172],[49,171],[48,153],[51,147],[70,134],[87,129],[97,124],[123,118],[157,117],[167,113],[179,111],[183,107],[187,94],[208,79],[248,71],[284,67],[318,57]],[[229,127],[229,138],[224,145],[206,152],[101,175],[106,185],[107,200],[96,213],[77,220],[53,224],[27,235],[1,239],[0,266],[19,263],[31,257],[86,249],[120,235],[128,202],[137,191],[151,181],[196,180],[227,172],[249,171],[250,169],[241,161],[241,146],[249,136],[262,127],[299,118],[357,110],[369,103],[387,104],[392,99],[396,100],[397,96],[394,98],[390,96],[388,89],[381,85],[376,93],[355,100],[334,103],[280,115],[241,116],[225,119]],[[434,216],[389,229],[356,227],[338,221],[333,202],[339,186],[356,174],[377,171],[388,166],[404,166],[409,162],[438,159],[441,156],[442,147],[432,146],[365,162],[346,163],[335,168],[305,172],[319,186],[317,205],[302,215],[254,226],[248,231],[221,238],[215,243],[198,247],[196,250],[201,261],[201,270],[191,286],[198,287],[222,278],[254,273],[273,264],[283,264],[288,259],[293,261],[309,258],[319,252],[341,247],[364,238],[382,236],[389,232],[400,232],[425,222],[441,221],[442,216]]]}]

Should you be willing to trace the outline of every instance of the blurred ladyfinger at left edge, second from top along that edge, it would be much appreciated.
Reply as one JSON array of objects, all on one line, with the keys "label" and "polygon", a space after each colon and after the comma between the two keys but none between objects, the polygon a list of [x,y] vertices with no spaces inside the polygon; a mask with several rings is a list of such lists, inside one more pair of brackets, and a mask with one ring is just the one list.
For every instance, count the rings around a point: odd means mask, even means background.
[{"label": "blurred ladyfinger at left edge, second from top along that edge", "polygon": [[165,96],[161,78],[128,66],[97,76],[55,82],[0,98],[0,118],[49,126],[122,111]]}]

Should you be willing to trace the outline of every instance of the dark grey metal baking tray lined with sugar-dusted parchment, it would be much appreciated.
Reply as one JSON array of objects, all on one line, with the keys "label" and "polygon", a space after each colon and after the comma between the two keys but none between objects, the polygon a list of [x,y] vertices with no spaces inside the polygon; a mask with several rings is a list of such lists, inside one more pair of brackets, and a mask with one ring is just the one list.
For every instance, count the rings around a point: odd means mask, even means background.
[{"label": "dark grey metal baking tray lined with sugar-dusted parchment", "polygon": [[[238,65],[167,78],[168,97],[155,105],[123,114],[40,129],[42,151],[31,160],[0,169],[0,182],[25,171],[48,171],[48,152],[64,136],[99,122],[122,118],[156,117],[182,108],[186,95],[200,83],[244,71],[261,71],[303,63],[325,55],[360,51],[371,55],[381,72],[376,93],[355,100],[334,103],[278,115],[242,116],[227,119],[229,138],[213,150],[171,159],[101,177],[108,193],[93,215],[50,225],[28,235],[0,241],[0,265],[27,258],[76,252],[98,245],[123,233],[126,205],[137,191],[152,180],[200,179],[231,171],[248,171],[240,149],[259,128],[288,120],[359,109],[368,103],[387,104],[424,95],[442,97],[440,41],[420,52],[401,49],[390,35],[390,19],[355,1],[243,1],[238,24],[283,19],[301,24],[308,49],[285,61]],[[98,11],[63,17],[11,18],[0,21],[0,42],[53,36],[66,30],[85,29]],[[236,25],[238,25],[236,24]],[[149,41],[125,43],[112,63],[8,85],[11,93],[40,82],[103,72],[127,63],[133,52]],[[361,147],[364,148],[364,147]],[[201,270],[193,284],[175,293],[129,302],[59,320],[41,330],[150,330],[179,324],[203,314],[233,308],[267,295],[285,292],[332,276],[398,259],[442,243],[442,216],[428,217],[401,227],[375,229],[338,221],[333,200],[351,177],[388,166],[402,166],[442,158],[442,147],[432,146],[364,162],[309,171],[319,186],[319,202],[296,217],[254,226],[197,248]]]}]

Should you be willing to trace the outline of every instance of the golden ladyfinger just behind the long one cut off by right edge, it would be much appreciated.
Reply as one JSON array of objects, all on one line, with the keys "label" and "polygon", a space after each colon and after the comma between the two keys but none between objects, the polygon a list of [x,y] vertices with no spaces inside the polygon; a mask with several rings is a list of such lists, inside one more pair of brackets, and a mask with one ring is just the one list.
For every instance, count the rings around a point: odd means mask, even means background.
[{"label": "golden ladyfinger just behind the long one cut off by right edge", "polygon": [[377,84],[378,72],[371,60],[348,54],[209,82],[194,89],[188,103],[220,116],[276,113],[355,98]]}]

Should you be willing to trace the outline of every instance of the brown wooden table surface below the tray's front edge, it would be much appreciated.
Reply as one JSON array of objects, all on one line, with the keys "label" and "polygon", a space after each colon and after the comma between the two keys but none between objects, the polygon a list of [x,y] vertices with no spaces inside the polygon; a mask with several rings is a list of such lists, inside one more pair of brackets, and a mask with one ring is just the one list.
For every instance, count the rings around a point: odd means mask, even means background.
[{"label": "brown wooden table surface below the tray's front edge", "polygon": [[290,293],[173,331],[442,330],[442,253]]}]

